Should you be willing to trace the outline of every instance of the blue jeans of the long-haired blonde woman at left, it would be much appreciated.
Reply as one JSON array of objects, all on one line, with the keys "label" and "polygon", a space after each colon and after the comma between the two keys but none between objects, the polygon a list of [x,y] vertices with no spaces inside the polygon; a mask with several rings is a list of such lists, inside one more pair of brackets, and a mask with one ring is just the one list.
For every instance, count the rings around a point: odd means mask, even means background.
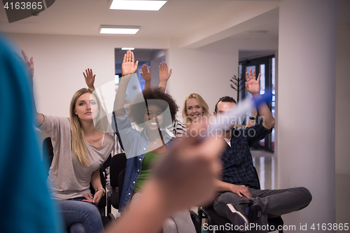
[{"label": "blue jeans of the long-haired blonde woman at left", "polygon": [[71,233],[101,233],[104,230],[97,206],[80,202],[85,198],[59,200],[59,213]]}]

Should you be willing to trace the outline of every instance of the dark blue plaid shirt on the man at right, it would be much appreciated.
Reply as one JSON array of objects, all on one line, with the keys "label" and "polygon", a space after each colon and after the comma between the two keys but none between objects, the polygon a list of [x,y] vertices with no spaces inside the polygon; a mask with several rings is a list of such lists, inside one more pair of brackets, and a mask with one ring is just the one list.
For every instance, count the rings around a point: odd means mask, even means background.
[{"label": "dark blue plaid shirt on the man at right", "polygon": [[231,146],[227,144],[221,155],[221,181],[258,189],[259,178],[255,175],[250,147],[270,132],[272,129],[265,129],[261,123],[245,129],[235,129],[230,140]]}]

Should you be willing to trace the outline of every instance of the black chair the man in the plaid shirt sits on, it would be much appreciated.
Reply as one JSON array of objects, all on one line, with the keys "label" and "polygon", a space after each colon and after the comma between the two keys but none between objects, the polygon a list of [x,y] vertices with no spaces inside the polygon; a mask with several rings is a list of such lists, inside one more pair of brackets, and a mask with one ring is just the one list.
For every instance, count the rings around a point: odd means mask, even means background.
[{"label": "black chair the man in the plaid shirt sits on", "polygon": [[[254,167],[254,169],[255,169],[255,167]],[[258,176],[258,172],[256,171],[256,169],[255,169],[255,176],[259,177]],[[259,182],[259,187],[258,188],[260,189],[260,182]],[[207,218],[208,219],[208,225],[211,225],[211,226],[214,226],[214,225],[216,225],[216,226],[225,226],[226,224],[229,224],[229,225],[232,224],[230,222],[230,220],[228,220],[226,218],[223,218],[221,216],[218,216],[218,214],[216,214],[216,212],[214,211],[213,204],[211,204],[209,206],[206,206],[206,207],[200,207],[198,209],[198,216],[200,216],[200,223],[202,223],[203,218]],[[275,231],[275,230],[279,229],[279,226],[281,226],[282,230],[279,230],[279,233],[283,233],[283,220],[282,220],[281,216],[279,216],[277,218],[268,218],[267,219],[267,223],[269,225],[269,230],[272,231],[272,229],[274,229],[274,231]],[[213,230],[209,229],[208,232],[212,233]],[[221,230],[216,230],[215,232],[216,233],[222,233],[222,232],[233,233],[233,232],[238,232],[238,231],[228,230],[225,227],[221,227]]]}]

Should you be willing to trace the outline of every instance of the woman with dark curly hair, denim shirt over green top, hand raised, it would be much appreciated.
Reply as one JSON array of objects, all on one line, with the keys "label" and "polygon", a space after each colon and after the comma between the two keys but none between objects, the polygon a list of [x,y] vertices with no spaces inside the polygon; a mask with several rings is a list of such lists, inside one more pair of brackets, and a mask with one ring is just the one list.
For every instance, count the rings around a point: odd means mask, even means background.
[{"label": "woman with dark curly hair, denim shirt over green top, hand raised", "polygon": [[[134,53],[128,50],[122,64],[123,78],[114,101],[114,127],[127,155],[119,209],[122,212],[127,204],[141,197],[141,190],[151,176],[154,162],[172,146],[174,135],[166,127],[175,120],[179,109],[174,99],[162,88],[144,90],[130,106],[131,119],[144,129],[139,132],[132,128],[123,106],[127,85],[137,71],[137,64]],[[175,213],[163,225],[163,232],[195,232],[190,213],[187,210]]]}]

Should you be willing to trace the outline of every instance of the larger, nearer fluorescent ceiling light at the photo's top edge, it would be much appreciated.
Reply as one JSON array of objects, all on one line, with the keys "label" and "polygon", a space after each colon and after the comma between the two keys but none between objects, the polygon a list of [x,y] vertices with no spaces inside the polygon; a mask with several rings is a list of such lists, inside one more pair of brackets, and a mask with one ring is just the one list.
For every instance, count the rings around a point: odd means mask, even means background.
[{"label": "larger, nearer fluorescent ceiling light at the photo's top edge", "polygon": [[126,1],[113,0],[110,9],[113,10],[160,10],[167,1]]}]

